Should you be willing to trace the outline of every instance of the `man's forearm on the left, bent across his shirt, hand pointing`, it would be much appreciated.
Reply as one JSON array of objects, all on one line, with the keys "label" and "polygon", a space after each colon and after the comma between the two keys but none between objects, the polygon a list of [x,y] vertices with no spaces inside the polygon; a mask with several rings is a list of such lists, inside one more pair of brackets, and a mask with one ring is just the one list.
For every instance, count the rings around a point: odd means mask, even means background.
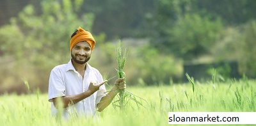
[{"label": "man's forearm on the left, bent across his shirt, hand pointing", "polygon": [[68,107],[72,104],[76,104],[77,102],[80,102],[84,98],[90,97],[92,95],[92,91],[85,91],[83,93],[79,93],[77,95],[68,95],[64,97],[60,97],[60,100],[58,98],[52,98],[54,106],[55,107]]}]

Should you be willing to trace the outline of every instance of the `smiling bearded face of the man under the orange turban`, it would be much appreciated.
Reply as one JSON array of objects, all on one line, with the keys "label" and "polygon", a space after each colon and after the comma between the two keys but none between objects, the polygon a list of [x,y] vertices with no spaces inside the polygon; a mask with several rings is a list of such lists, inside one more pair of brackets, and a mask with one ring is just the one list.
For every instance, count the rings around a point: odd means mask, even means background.
[{"label": "smiling bearded face of the man under the orange turban", "polygon": [[74,45],[71,51],[72,60],[79,64],[84,64],[91,58],[91,46],[88,42],[79,42]]}]

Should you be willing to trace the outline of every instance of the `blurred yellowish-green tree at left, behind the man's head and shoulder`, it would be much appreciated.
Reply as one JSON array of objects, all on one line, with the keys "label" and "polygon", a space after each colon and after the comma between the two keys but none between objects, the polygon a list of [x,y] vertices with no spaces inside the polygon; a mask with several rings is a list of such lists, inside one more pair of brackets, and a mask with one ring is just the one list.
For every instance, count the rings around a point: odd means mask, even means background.
[{"label": "blurred yellowish-green tree at left, behind the man's head and shoulder", "polygon": [[[70,58],[69,36],[79,26],[91,29],[93,14],[78,17],[69,6],[73,2],[81,3],[79,0],[42,1],[41,15],[36,15],[35,7],[28,5],[18,17],[11,20],[11,24],[0,29],[0,52],[13,61],[10,70],[17,70],[14,75],[18,80],[26,77],[29,83],[37,87],[42,83],[47,84],[51,68],[67,63]],[[79,6],[76,6],[77,9]],[[23,85],[17,82],[17,87]],[[6,83],[6,80],[3,78],[0,83]],[[47,90],[46,86],[41,86],[42,90]]]}]

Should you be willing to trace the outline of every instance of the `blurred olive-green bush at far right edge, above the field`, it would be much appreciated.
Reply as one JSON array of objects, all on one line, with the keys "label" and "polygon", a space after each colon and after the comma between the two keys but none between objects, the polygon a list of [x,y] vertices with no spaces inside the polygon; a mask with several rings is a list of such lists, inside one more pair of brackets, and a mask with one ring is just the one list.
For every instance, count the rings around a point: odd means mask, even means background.
[{"label": "blurred olive-green bush at far right edge, above the field", "polygon": [[[218,41],[212,45],[212,56],[216,61],[238,61],[240,74],[255,77],[255,56],[252,56],[256,48],[255,31],[255,21],[223,29]],[[229,69],[226,67],[217,71],[225,77]]]}]

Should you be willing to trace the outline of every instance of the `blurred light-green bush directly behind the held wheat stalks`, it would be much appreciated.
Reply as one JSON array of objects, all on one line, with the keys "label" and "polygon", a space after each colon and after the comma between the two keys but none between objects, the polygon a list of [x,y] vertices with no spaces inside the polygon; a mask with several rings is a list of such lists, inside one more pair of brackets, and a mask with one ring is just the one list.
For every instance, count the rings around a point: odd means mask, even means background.
[{"label": "blurred light-green bush directly behind the held wheat stalks", "polygon": [[[134,39],[132,44],[129,44],[122,40],[124,46],[129,48],[127,56],[129,61],[125,62],[124,68],[125,80],[129,82],[129,86],[169,84],[170,81],[177,82],[181,79],[182,61],[180,59],[175,59],[172,55],[161,54],[148,43],[138,45],[137,41]],[[115,46],[115,43],[100,43],[99,48],[93,52],[91,61],[100,72],[108,72],[110,76],[116,75],[115,68],[118,66],[115,53],[113,53]],[[115,81],[109,83],[115,83]]]}]

